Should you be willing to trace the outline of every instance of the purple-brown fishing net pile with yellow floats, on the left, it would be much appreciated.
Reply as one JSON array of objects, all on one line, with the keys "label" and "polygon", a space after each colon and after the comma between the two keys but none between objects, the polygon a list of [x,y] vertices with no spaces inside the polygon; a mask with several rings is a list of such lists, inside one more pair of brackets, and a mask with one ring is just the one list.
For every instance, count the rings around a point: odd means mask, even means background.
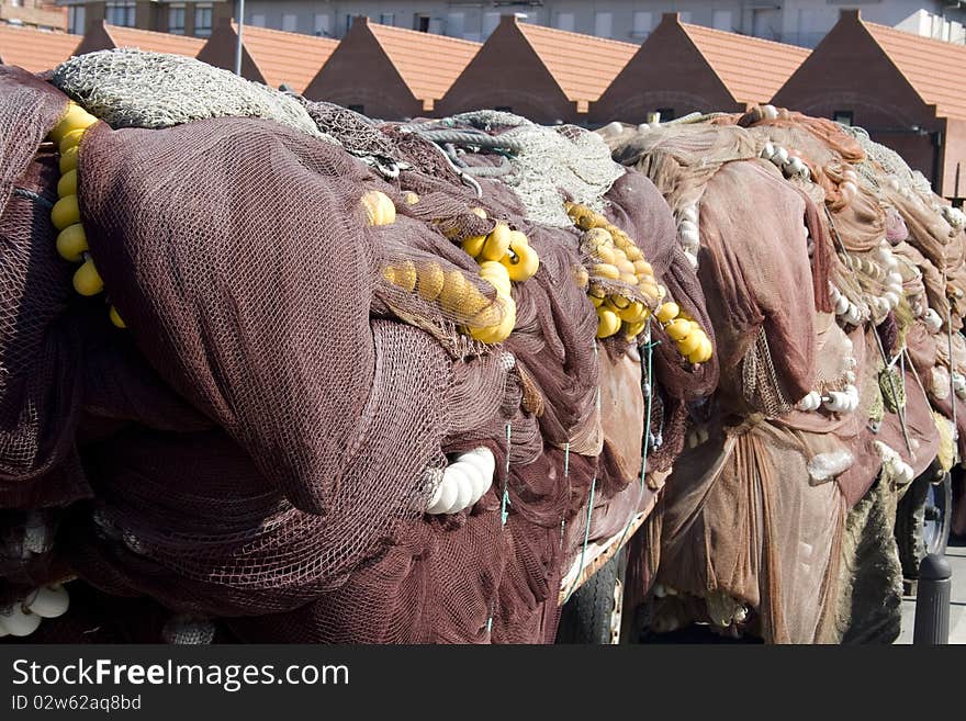
[{"label": "purple-brown fishing net pile with yellow floats, on the left", "polygon": [[4,633],[551,641],[717,386],[671,211],[586,131],[134,50],[0,68],[0,129]]}]

